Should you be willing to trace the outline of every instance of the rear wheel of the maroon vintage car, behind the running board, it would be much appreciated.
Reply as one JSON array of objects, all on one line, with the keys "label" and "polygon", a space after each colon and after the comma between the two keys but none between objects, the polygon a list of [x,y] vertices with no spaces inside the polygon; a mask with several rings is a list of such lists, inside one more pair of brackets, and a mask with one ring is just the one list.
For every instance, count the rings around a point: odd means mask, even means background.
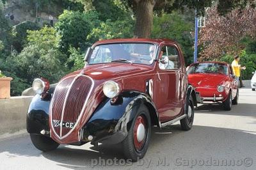
[{"label": "rear wheel of the maroon vintage car, behind the running board", "polygon": [[194,102],[191,97],[189,97],[188,104],[186,104],[186,118],[180,120],[180,126],[182,130],[190,130],[194,121]]}]

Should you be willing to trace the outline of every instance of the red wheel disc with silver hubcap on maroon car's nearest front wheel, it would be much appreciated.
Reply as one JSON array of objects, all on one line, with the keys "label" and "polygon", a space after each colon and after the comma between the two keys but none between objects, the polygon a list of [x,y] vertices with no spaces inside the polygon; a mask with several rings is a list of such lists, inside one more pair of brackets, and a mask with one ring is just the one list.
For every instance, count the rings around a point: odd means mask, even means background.
[{"label": "red wheel disc with silver hubcap on maroon car's nearest front wheel", "polygon": [[143,116],[138,116],[138,118],[136,118],[133,130],[133,142],[137,151],[140,151],[143,148],[146,138],[147,124],[145,123]]}]

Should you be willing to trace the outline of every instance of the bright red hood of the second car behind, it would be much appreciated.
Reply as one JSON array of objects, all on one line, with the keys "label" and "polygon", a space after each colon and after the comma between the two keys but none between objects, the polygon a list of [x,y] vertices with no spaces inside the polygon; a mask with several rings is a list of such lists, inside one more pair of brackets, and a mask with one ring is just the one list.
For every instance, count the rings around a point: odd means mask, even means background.
[{"label": "bright red hood of the second car behind", "polygon": [[188,82],[194,87],[214,88],[227,79],[227,75],[215,73],[195,73],[188,75]]}]

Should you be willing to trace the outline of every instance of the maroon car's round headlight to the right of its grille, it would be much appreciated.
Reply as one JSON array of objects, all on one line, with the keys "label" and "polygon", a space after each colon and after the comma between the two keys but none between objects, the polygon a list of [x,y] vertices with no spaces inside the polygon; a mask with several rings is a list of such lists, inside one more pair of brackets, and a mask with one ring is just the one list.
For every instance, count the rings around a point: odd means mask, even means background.
[{"label": "maroon car's round headlight to the right of its grille", "polygon": [[107,81],[103,85],[103,93],[108,98],[116,97],[120,93],[120,86],[115,81]]}]

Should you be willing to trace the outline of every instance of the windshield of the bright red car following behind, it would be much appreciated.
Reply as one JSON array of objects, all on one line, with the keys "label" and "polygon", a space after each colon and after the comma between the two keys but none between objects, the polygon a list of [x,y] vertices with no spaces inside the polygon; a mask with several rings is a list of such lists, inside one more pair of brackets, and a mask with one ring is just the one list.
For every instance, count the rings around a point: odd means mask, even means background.
[{"label": "windshield of the bright red car following behind", "polygon": [[221,63],[195,63],[189,67],[188,73],[221,73],[228,75],[228,68]]}]

